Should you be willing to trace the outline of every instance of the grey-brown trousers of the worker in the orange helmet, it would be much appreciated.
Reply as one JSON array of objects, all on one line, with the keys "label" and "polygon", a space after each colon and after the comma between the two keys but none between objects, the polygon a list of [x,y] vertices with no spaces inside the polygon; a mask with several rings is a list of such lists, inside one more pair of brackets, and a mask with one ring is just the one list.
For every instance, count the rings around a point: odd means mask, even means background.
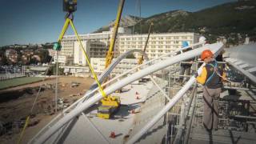
[{"label": "grey-brown trousers of the worker in the orange helmet", "polygon": [[203,89],[203,125],[208,130],[218,129],[218,100],[222,88],[209,89],[204,86]]}]

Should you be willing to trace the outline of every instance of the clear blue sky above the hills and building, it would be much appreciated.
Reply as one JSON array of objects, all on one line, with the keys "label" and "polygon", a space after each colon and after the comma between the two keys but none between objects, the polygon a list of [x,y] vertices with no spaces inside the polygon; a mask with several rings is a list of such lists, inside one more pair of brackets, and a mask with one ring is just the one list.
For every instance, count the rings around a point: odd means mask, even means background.
[{"label": "clear blue sky above the hills and building", "polygon": [[[141,0],[142,17],[170,10],[198,11],[236,0]],[[114,20],[119,0],[78,0],[74,25],[87,34]],[[126,0],[122,15],[139,15],[138,0]],[[62,0],[1,0],[0,46],[56,42],[64,23]],[[68,30],[67,34],[73,34]]]}]

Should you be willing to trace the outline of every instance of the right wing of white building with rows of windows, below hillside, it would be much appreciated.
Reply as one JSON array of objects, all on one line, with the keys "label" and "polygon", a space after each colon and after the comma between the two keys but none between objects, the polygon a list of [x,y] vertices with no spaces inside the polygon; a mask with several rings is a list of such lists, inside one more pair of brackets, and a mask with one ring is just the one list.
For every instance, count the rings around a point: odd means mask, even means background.
[{"label": "right wing of white building with rows of windows, below hillside", "polygon": [[[120,54],[129,50],[143,50],[146,44],[147,34],[126,34],[118,37],[118,50]],[[146,54],[150,59],[157,58],[162,54],[170,53],[182,47],[182,41],[189,44],[198,42],[199,34],[196,33],[163,33],[150,34],[146,46]],[[139,54],[134,54],[138,58]]]}]

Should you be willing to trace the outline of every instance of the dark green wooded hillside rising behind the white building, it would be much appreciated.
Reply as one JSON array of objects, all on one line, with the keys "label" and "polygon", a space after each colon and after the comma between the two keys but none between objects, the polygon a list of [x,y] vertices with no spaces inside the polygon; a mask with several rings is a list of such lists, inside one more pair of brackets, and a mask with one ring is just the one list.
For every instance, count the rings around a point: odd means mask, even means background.
[{"label": "dark green wooded hillside rising behind the white building", "polygon": [[[197,12],[174,10],[156,14],[142,20],[142,33],[147,33],[149,22],[154,22],[155,33],[197,32],[211,40],[218,36],[226,38],[245,37],[248,34],[256,39],[256,1],[229,2]],[[135,25],[135,32],[140,31],[140,24]]]}]

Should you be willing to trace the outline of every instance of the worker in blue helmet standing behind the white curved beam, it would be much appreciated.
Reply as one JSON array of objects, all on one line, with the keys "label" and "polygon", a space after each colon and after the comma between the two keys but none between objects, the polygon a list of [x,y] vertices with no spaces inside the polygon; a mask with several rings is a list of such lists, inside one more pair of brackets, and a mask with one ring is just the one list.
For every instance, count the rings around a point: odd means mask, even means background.
[{"label": "worker in blue helmet standing behind the white curved beam", "polygon": [[[183,41],[182,42],[182,48],[187,47],[187,46],[189,46],[189,43],[186,42],[186,41]],[[186,50],[182,50],[182,51],[186,52],[188,50],[190,50],[190,49],[186,49]],[[180,73],[179,73],[180,76],[179,76],[179,79],[178,79],[178,82],[180,83],[180,86],[182,86],[182,83],[183,83],[183,78],[184,78],[183,75],[185,73],[185,70],[186,70],[186,75],[187,76],[190,75],[190,68],[192,66],[193,60],[194,59],[189,59],[189,60],[186,60],[184,62],[181,62],[181,70],[180,70]],[[186,79],[188,79],[188,78],[186,78]]]}]

